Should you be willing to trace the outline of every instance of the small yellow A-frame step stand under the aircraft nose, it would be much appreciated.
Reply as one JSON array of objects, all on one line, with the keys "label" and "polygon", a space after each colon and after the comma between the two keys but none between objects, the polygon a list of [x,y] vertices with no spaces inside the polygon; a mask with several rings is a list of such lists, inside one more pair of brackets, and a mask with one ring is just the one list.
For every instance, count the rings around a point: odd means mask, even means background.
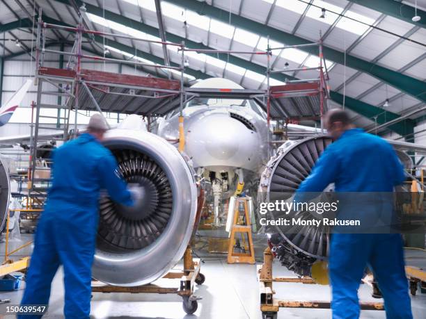
[{"label": "small yellow A-frame step stand under the aircraft nose", "polygon": [[[244,207],[244,215],[240,215],[240,203]],[[240,217],[242,217],[241,222],[239,222]],[[236,243],[235,235],[237,234],[241,234],[243,242],[242,248],[244,248],[245,252],[234,252],[234,245]],[[247,242],[245,236],[247,237]],[[251,237],[250,216],[248,214],[248,197],[237,197],[235,199],[234,217],[232,221],[228,247],[228,263],[255,263],[253,238]]]}]

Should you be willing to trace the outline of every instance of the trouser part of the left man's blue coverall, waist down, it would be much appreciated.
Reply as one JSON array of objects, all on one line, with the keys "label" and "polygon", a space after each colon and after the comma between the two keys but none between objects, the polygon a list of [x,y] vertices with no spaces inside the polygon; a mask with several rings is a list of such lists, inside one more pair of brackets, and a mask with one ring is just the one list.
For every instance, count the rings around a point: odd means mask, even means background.
[{"label": "trouser part of the left man's blue coverall, waist down", "polygon": [[87,211],[57,211],[45,210],[38,222],[21,304],[48,304],[52,279],[59,265],[63,265],[65,318],[89,318],[97,215],[93,217]]}]

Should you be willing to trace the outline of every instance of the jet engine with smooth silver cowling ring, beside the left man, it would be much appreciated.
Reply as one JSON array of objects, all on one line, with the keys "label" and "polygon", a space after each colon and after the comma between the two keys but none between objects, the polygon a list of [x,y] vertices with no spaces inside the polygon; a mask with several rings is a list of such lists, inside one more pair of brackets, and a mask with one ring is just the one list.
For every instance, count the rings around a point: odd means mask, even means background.
[{"label": "jet engine with smooth silver cowling ring, beside the left man", "polygon": [[130,187],[141,190],[137,208],[100,198],[93,277],[117,286],[159,279],[182,258],[194,229],[194,171],[166,140],[141,130],[114,129],[104,146]]}]

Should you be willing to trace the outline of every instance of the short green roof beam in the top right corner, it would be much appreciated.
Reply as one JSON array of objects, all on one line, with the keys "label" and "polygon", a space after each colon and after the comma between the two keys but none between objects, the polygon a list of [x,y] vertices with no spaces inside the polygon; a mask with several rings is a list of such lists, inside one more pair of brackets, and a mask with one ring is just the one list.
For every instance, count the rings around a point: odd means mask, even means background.
[{"label": "short green roof beam in the top right corner", "polygon": [[400,1],[394,0],[349,0],[360,6],[370,8],[372,10],[379,11],[379,13],[384,13],[395,17],[397,19],[409,22],[421,28],[426,28],[426,12],[423,10],[417,9],[417,15],[420,17],[420,21],[413,22],[411,20],[414,17],[414,7],[409,6],[408,4],[401,3]]}]

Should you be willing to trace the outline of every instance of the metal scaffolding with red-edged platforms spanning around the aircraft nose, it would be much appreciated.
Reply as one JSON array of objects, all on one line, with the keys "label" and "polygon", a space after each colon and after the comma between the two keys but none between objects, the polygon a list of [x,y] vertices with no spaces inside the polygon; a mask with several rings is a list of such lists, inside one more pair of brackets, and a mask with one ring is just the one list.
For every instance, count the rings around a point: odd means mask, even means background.
[{"label": "metal scaffolding with red-edged platforms spanning around the aircraft nose", "polygon": [[[184,104],[196,97],[210,97],[222,99],[251,99],[267,114],[267,126],[271,130],[271,120],[276,121],[276,128],[285,131],[290,122],[301,120],[320,121],[323,128],[323,115],[327,109],[329,98],[328,71],[324,56],[322,54],[322,42],[313,42],[284,47],[269,47],[265,51],[255,49],[254,51],[232,51],[215,49],[188,49],[184,42],[174,43],[167,41],[147,40],[136,38],[131,35],[93,31],[84,27],[83,19],[86,9],[80,8],[79,22],[77,27],[50,24],[42,21],[41,10],[38,14],[38,28],[36,39],[36,85],[37,98],[33,108],[36,112],[31,123],[31,156],[29,158],[29,197],[42,197],[46,194],[49,186],[49,178],[36,178],[34,172],[49,167],[38,167],[38,154],[42,151],[40,142],[43,140],[68,140],[77,136],[77,114],[79,111],[98,111],[137,114],[148,118],[152,123],[152,117],[164,116],[179,108],[180,110],[180,138],[179,150],[184,149],[184,130],[182,110]],[[50,29],[74,34],[74,46],[71,51],[47,49],[46,35]],[[98,35],[103,37],[123,38],[134,42],[148,42],[162,44],[165,47],[176,47],[180,52],[180,65],[159,65],[143,63],[139,60],[120,60],[118,58],[107,58],[105,56],[93,56],[83,53],[81,47],[82,39]],[[299,47],[318,47],[319,65],[317,67],[297,67],[292,69],[273,69],[271,57],[275,50],[285,50]],[[246,90],[230,88],[185,88],[184,68],[185,52],[196,52],[198,54],[239,54],[247,56],[266,56],[266,89]],[[284,51],[285,52],[285,51]],[[45,65],[45,54],[58,54],[60,58],[68,56],[68,63],[60,63],[59,68],[47,67]],[[278,58],[278,57],[277,57]],[[61,59],[60,59],[61,60]],[[180,72],[180,79],[161,79],[153,76],[136,76],[129,74],[117,74],[112,72],[97,71],[94,69],[83,69],[83,60],[97,60],[105,62],[116,62],[134,65],[135,67],[153,67],[166,69],[168,72]],[[313,79],[294,79],[288,76],[288,72],[318,71],[318,76]],[[285,74],[286,80],[283,85],[270,85],[272,74]],[[43,85],[52,85],[56,92],[47,91]],[[52,87],[51,86],[51,87]],[[45,95],[58,96],[58,104],[46,104],[42,102]],[[63,103],[62,103],[63,102]],[[52,108],[58,111],[58,117],[42,115],[42,108]],[[72,112],[74,117],[72,118]],[[56,118],[58,123],[55,128],[42,126],[40,119],[43,117]],[[58,135],[44,134],[43,131],[56,130]],[[274,145],[268,134],[268,148]],[[46,149],[48,152],[49,149]],[[46,187],[37,189],[40,183],[47,183]]]}]

